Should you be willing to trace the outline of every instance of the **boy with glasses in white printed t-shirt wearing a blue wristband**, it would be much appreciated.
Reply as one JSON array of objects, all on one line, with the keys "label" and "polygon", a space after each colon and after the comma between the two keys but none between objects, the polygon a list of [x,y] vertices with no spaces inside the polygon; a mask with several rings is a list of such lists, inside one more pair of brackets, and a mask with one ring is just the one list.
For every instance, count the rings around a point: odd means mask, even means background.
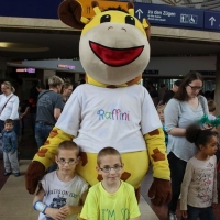
[{"label": "boy with glasses in white printed t-shirt wearing a blue wristband", "polygon": [[76,174],[80,161],[79,146],[72,141],[62,142],[55,161],[58,169],[43,177],[33,207],[41,212],[41,220],[76,220],[88,190],[86,180]]}]

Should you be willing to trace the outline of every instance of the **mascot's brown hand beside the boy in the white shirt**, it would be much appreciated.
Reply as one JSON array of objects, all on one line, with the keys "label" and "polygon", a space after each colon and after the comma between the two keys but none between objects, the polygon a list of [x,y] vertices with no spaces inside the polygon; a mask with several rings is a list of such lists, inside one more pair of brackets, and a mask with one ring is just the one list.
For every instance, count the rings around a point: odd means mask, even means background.
[{"label": "mascot's brown hand beside the boy in the white shirt", "polygon": [[45,167],[40,162],[32,162],[25,174],[25,186],[29,194],[34,194],[38,185],[38,180],[44,175]]}]

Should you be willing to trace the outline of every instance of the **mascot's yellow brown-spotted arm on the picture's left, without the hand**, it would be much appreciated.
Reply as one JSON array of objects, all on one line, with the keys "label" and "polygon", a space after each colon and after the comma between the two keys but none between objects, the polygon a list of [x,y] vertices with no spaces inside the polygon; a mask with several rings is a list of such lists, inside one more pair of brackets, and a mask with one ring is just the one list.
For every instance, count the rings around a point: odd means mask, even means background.
[{"label": "mascot's yellow brown-spotted arm on the picture's left, without the hand", "polygon": [[55,160],[56,150],[63,141],[72,141],[73,135],[65,133],[63,130],[54,127],[43,146],[40,147],[33,161],[37,161],[47,169]]}]

